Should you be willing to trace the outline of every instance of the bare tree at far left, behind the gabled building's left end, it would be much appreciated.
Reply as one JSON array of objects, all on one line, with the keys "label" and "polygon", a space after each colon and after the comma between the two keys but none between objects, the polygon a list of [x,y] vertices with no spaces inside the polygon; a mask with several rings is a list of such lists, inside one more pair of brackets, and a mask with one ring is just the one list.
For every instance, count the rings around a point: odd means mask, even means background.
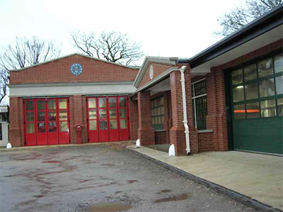
[{"label": "bare tree at far left, behind the gabled building's left end", "polygon": [[61,50],[55,47],[54,42],[40,40],[33,36],[16,38],[15,45],[7,45],[0,52],[0,104],[7,94],[9,69],[21,69],[40,62],[59,57]]}]

